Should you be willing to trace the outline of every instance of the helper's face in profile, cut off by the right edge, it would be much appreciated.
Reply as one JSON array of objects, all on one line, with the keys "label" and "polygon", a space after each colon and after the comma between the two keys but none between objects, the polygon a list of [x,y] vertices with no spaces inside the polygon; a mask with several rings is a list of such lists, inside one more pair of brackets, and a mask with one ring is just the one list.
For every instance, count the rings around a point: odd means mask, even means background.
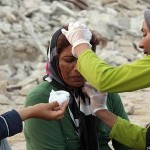
[{"label": "helper's face in profile, cut off by the right edge", "polygon": [[143,22],[141,31],[143,38],[140,41],[139,47],[144,50],[144,54],[150,55],[150,32],[145,21]]}]

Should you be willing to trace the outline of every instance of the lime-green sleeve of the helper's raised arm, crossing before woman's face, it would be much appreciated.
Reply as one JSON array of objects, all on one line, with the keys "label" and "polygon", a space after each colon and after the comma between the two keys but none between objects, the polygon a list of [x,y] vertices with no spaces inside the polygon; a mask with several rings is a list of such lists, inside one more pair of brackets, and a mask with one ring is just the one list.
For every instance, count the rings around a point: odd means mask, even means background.
[{"label": "lime-green sleeve of the helper's raised arm, crossing before woman's face", "polygon": [[150,56],[112,67],[87,50],[78,58],[77,68],[85,79],[102,92],[127,92],[150,86]]}]

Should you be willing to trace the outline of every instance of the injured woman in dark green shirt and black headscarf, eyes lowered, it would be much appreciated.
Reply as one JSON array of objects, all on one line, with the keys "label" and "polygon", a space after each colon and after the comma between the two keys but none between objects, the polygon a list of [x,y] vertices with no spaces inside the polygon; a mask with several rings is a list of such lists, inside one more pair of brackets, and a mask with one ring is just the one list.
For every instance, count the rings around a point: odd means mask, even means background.
[{"label": "injured woman in dark green shirt and black headscarf, eyes lowered", "polygon": [[[90,43],[95,51],[96,45],[104,44],[105,40],[92,31]],[[110,129],[91,114],[90,99],[81,90],[85,79],[77,71],[77,59],[72,55],[71,48],[61,29],[56,31],[49,47],[51,80],[46,78],[46,81],[33,89],[26,98],[25,106],[47,103],[52,90],[69,92],[69,106],[59,121],[25,121],[27,150],[110,150]],[[108,94],[107,107],[116,115],[128,119],[118,94]],[[115,140],[112,143],[115,149],[128,149]]]}]

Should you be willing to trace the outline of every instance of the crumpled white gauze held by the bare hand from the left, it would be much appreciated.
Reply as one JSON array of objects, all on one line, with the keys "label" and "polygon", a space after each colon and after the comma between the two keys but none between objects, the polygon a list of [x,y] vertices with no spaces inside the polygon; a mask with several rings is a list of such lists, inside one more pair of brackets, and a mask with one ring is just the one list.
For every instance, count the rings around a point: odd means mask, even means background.
[{"label": "crumpled white gauze held by the bare hand from the left", "polygon": [[63,90],[54,91],[54,90],[52,90],[50,92],[50,96],[49,96],[49,103],[57,101],[59,106],[61,106],[62,103],[66,101],[68,104],[69,97],[70,97],[70,94],[67,91],[63,91]]}]

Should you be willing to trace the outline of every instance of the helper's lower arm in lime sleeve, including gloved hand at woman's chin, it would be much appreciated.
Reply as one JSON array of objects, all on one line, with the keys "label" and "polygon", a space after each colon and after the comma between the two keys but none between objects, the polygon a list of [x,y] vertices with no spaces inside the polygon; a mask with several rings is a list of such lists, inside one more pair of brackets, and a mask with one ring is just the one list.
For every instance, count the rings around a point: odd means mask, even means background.
[{"label": "helper's lower arm in lime sleeve, including gloved hand at woman's chin", "polygon": [[142,128],[108,111],[104,94],[89,84],[85,84],[83,91],[91,97],[93,113],[111,128],[110,138],[136,150],[150,149],[150,127]]}]

